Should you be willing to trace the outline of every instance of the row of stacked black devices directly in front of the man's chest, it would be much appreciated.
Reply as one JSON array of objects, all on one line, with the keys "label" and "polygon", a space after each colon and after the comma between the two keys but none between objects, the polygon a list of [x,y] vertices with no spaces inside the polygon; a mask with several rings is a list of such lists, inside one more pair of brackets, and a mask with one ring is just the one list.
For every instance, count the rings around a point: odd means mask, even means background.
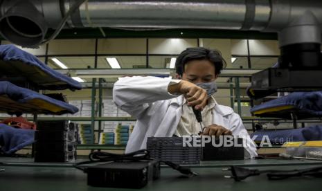
[{"label": "row of stacked black devices directly in front of the man's chest", "polygon": [[[199,143],[202,141],[198,137]],[[150,156],[158,161],[170,161],[181,165],[199,164],[200,161],[226,161],[244,159],[244,147],[242,147],[242,138],[232,138],[233,145],[229,147],[213,146],[220,145],[220,140],[212,140],[211,143],[205,143],[196,147],[184,147],[184,138],[182,137],[148,137],[147,150]],[[236,144],[238,143],[238,144]]]}]

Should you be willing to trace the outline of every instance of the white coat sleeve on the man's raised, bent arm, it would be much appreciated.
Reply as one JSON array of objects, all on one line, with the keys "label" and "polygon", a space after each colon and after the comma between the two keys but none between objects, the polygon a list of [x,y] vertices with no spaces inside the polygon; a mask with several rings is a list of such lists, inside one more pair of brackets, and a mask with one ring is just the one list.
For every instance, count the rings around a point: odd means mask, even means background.
[{"label": "white coat sleeve on the man's raised, bent arm", "polygon": [[114,84],[113,100],[120,109],[138,119],[154,102],[176,98],[168,92],[168,85],[177,82],[152,76],[119,78]]}]

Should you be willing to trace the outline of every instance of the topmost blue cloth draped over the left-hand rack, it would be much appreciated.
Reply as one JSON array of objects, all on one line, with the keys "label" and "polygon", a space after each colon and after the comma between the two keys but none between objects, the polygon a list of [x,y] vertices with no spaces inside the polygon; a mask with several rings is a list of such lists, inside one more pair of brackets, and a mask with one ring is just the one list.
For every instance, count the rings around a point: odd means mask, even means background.
[{"label": "topmost blue cloth draped over the left-hand rack", "polygon": [[[26,53],[25,51],[22,51],[21,49],[17,48],[17,46],[14,45],[1,45],[0,46],[0,59],[8,62],[12,65],[17,66],[10,66],[10,70],[17,70],[17,72],[24,76],[24,71],[21,71],[24,69],[24,67],[28,67],[28,69],[31,69],[33,71],[34,78],[37,78],[37,84],[41,89],[82,89],[82,84],[80,82],[77,82],[73,80],[72,78],[69,78],[66,75],[63,75],[62,73],[59,73],[57,71],[54,71],[50,67],[46,66],[46,64],[40,62],[37,57],[30,53]],[[19,65],[12,61],[19,61]],[[24,64],[24,65],[21,65]],[[2,63],[3,65],[3,63]],[[5,69],[8,70],[8,66]],[[41,70],[44,73],[37,73],[37,70]],[[0,63],[0,69],[1,63]],[[6,74],[6,73],[4,73]],[[33,76],[30,76],[26,74],[26,78],[33,82]],[[42,80],[39,80],[39,75],[42,75]],[[44,82],[44,84],[42,84]]]}]

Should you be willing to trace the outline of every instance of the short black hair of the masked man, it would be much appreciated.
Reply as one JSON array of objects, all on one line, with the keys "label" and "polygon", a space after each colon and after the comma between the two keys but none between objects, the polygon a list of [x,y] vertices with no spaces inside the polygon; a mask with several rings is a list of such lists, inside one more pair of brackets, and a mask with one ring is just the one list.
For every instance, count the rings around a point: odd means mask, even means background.
[{"label": "short black hair of the masked man", "polygon": [[179,54],[175,62],[177,74],[182,76],[182,73],[184,73],[184,64],[192,60],[209,60],[215,66],[215,75],[220,74],[224,66],[226,66],[226,61],[222,58],[220,51],[204,47],[187,48]]}]

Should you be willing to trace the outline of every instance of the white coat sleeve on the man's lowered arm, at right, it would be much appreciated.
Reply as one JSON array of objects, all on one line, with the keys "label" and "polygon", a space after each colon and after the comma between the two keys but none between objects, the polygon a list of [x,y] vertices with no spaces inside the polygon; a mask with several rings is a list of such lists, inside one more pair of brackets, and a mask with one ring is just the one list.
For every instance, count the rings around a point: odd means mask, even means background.
[{"label": "white coat sleeve on the man's lowered arm, at right", "polygon": [[249,136],[246,128],[244,127],[244,125],[242,124],[242,119],[240,118],[240,116],[238,115],[238,113],[233,113],[230,119],[230,125],[231,125],[231,131],[233,133],[233,136],[238,136],[241,138],[244,138],[244,149],[246,149],[246,151],[248,152],[249,156],[246,158],[253,158],[255,156],[257,156],[257,152],[256,152],[256,145],[253,142],[253,140],[251,140],[251,136]]}]

